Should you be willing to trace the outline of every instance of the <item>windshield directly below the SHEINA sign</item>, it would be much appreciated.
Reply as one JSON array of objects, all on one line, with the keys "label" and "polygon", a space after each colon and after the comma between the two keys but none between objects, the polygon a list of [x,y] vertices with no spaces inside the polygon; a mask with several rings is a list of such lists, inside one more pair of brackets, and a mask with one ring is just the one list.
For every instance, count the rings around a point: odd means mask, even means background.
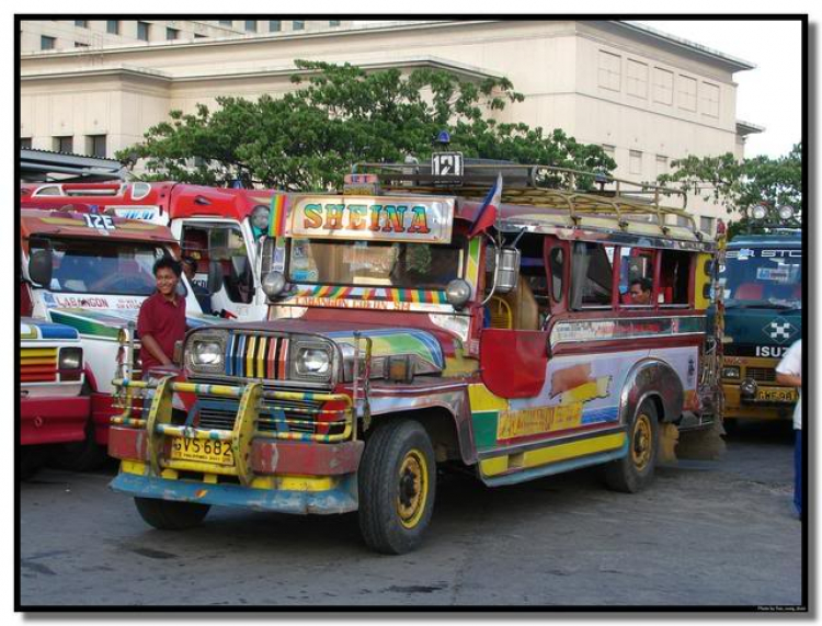
[{"label": "windshield directly below the SHEINA sign", "polygon": [[295,283],[442,289],[463,275],[458,246],[293,239]]}]

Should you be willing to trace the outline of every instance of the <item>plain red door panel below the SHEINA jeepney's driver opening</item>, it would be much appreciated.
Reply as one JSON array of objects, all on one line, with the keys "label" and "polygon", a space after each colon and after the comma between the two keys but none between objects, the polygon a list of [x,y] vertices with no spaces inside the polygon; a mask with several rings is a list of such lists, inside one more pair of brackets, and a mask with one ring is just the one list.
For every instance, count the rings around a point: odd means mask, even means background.
[{"label": "plain red door panel below the SHEINA jeepney's driver opening", "polygon": [[480,334],[482,383],[501,398],[532,398],[545,384],[548,333],[486,328]]}]

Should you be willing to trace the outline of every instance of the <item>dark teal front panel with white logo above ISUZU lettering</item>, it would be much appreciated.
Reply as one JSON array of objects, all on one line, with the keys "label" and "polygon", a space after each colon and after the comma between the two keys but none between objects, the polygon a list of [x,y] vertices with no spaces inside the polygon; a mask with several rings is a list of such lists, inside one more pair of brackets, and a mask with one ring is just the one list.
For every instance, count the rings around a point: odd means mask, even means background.
[{"label": "dark teal front panel with white logo above ISUZU lettering", "polygon": [[[747,355],[755,346],[788,348],[802,335],[800,309],[731,306],[724,311],[724,353]],[[774,352],[778,354],[781,351]],[[754,353],[751,352],[750,355]]]}]

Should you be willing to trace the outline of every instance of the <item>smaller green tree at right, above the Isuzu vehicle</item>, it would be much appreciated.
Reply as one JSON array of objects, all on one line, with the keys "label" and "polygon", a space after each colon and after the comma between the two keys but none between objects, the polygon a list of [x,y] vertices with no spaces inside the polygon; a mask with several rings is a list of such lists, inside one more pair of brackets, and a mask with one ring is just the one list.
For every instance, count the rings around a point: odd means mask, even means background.
[{"label": "smaller green tree at right, above the Isuzu vehicle", "polygon": [[761,231],[752,218],[756,205],[767,207],[762,220],[781,223],[777,210],[790,205],[795,219],[785,226],[799,226],[802,213],[802,144],[796,144],[787,155],[772,159],[754,157],[738,161],[730,152],[720,157],[687,157],[671,162],[674,169],[662,174],[662,185],[678,183],[680,189],[698,194],[705,201],[721,204],[728,213],[739,212],[740,220],[731,224],[730,234]]}]

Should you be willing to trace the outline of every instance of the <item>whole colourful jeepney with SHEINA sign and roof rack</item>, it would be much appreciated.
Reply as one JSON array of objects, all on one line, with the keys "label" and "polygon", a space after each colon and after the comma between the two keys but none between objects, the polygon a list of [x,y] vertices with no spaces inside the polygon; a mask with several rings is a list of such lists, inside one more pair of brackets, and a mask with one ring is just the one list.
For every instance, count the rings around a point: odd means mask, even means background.
[{"label": "whole colourful jeepney with SHEINA sign and roof rack", "polygon": [[[663,431],[713,423],[716,247],[662,190],[512,167],[496,203],[496,171],[374,169],[275,197],[267,320],[193,330],[179,375],[115,383],[111,487],[148,524],[357,511],[370,548],[401,554],[441,464],[491,487],[601,465],[633,492]],[[627,301],[638,278],[647,304]]]}]

